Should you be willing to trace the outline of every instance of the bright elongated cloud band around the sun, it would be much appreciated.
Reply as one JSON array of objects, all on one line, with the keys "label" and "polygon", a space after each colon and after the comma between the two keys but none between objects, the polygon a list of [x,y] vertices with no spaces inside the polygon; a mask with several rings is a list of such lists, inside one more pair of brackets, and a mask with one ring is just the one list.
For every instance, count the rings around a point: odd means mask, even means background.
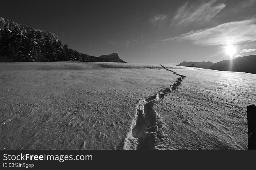
[{"label": "bright elongated cloud band around the sun", "polygon": [[256,41],[256,19],[228,22],[214,28],[190,31],[178,37],[161,41],[189,40],[203,46],[221,44],[241,44]]}]

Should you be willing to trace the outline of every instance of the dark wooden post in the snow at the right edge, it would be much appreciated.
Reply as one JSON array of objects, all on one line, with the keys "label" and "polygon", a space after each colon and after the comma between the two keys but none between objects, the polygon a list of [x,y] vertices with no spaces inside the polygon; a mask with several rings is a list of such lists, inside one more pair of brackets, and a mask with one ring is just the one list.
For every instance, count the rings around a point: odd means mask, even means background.
[{"label": "dark wooden post in the snow at the right edge", "polygon": [[255,131],[256,130],[256,106],[255,105],[247,106],[247,125],[248,125],[248,149],[256,149],[256,131]]}]

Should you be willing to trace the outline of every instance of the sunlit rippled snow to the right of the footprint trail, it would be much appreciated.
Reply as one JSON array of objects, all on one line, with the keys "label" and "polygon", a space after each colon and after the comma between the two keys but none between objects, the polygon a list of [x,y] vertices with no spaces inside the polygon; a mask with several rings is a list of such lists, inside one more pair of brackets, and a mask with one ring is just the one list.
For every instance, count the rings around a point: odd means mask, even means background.
[{"label": "sunlit rippled snow to the right of the footprint trail", "polygon": [[[167,67],[168,68],[168,67]],[[256,104],[256,75],[200,68],[186,76],[155,110],[176,149],[248,149],[247,106]]]}]

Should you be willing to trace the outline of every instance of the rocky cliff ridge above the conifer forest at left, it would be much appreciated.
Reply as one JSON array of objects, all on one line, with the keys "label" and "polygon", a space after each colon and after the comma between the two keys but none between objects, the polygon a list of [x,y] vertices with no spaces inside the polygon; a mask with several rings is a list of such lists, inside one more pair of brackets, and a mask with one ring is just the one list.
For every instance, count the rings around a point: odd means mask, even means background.
[{"label": "rocky cliff ridge above the conifer forest at left", "polygon": [[25,34],[25,35],[30,33],[31,30],[34,30],[36,34],[41,33],[42,37],[46,37],[47,35],[49,35],[49,37],[52,41],[53,40],[58,41],[58,36],[55,35],[54,33],[49,33],[49,32],[46,32],[46,31],[43,31],[43,30],[40,30],[40,29],[35,29],[35,28],[29,27],[29,26],[24,25],[24,24],[17,24],[17,23],[15,23],[15,22],[13,22],[9,19],[5,19],[3,17],[0,17],[0,29],[3,28],[3,25],[6,25],[9,29],[16,30],[17,32]]}]

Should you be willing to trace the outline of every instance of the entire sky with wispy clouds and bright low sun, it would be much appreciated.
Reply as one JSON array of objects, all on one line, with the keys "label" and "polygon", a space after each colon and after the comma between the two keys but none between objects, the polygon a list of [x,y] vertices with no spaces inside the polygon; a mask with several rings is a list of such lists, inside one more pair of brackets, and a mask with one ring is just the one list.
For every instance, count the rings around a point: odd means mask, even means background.
[{"label": "entire sky with wispy clouds and bright low sun", "polygon": [[1,6],[1,17],[54,33],[92,56],[178,64],[256,54],[256,0],[23,0]]}]

